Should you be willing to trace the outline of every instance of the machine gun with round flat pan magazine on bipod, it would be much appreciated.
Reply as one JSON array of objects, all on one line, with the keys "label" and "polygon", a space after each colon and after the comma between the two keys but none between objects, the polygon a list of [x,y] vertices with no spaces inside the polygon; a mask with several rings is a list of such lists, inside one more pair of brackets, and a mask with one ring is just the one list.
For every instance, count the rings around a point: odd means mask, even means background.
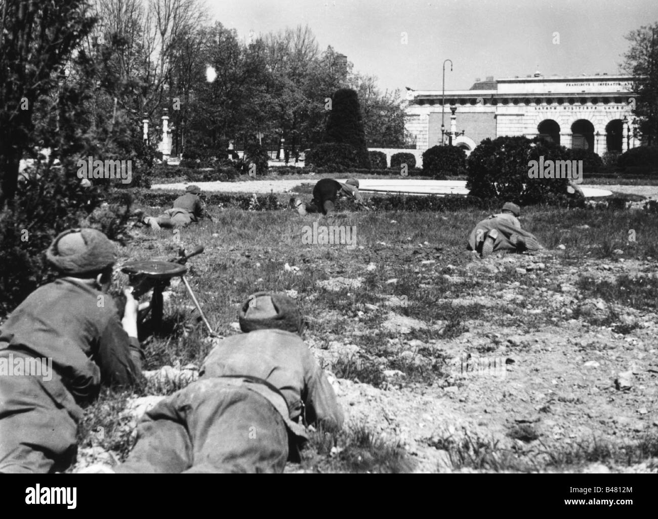
[{"label": "machine gun with round flat pan magazine on bipod", "polygon": [[[213,328],[211,328],[208,320],[205,318],[203,310],[201,310],[201,305],[199,305],[199,301],[197,301],[197,298],[192,291],[192,287],[185,277],[186,272],[188,272],[188,268],[185,266],[188,259],[203,253],[203,250],[203,246],[199,245],[190,254],[186,254],[185,249],[180,247],[180,249],[178,249],[178,256],[168,261],[132,261],[122,266],[121,272],[128,274],[128,282],[132,286],[132,295],[135,299],[138,299],[148,291],[153,290],[149,310],[151,313],[151,326],[154,331],[159,330],[162,326],[163,291],[169,286],[172,278],[180,277],[183,280],[186,289],[188,289],[188,293],[190,293],[194,306],[199,311],[203,324],[205,324],[211,336],[216,336],[215,332],[213,332]],[[139,316],[141,322],[145,320],[149,310]]]}]

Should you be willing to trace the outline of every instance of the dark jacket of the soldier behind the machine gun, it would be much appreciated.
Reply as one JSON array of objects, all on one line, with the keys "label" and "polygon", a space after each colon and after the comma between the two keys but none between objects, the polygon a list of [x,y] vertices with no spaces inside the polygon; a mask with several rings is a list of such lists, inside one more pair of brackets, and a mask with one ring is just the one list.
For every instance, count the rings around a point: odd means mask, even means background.
[{"label": "dark jacket of the soldier behind the machine gun", "polygon": [[52,358],[55,376],[43,385],[67,408],[73,403],[60,385],[80,404],[101,383],[129,386],[141,378],[143,353],[122,328],[113,298],[71,278],[39,287],[11,313],[0,329],[0,355],[7,351]]}]

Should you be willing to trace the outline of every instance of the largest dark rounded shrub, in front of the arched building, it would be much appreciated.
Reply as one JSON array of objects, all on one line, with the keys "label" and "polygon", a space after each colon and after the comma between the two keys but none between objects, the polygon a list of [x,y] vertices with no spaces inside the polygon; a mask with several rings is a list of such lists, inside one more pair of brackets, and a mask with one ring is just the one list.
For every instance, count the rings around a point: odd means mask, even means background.
[{"label": "largest dark rounded shrub, in front of the arched building", "polygon": [[498,198],[522,205],[561,204],[569,179],[534,178],[534,170],[538,172],[542,161],[545,164],[570,160],[569,150],[544,139],[530,140],[523,136],[484,139],[468,157],[467,188],[470,195],[482,199]]}]

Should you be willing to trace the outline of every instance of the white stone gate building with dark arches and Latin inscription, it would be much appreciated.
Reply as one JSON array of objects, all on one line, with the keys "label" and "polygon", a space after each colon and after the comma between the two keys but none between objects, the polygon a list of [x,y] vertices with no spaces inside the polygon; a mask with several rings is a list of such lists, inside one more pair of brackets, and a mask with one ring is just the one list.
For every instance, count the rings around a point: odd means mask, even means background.
[{"label": "white stone gate building with dark arches and Latin inscription", "polygon": [[[544,136],[567,148],[626,151],[640,145],[634,132],[632,76],[545,77],[485,81],[468,90],[446,90],[445,131],[450,131],[450,107],[456,106],[456,130],[463,136],[453,145],[470,153],[480,141],[501,136]],[[442,139],[442,91],[411,90],[407,95],[407,130],[417,149]],[[448,136],[444,135],[445,143]]]}]

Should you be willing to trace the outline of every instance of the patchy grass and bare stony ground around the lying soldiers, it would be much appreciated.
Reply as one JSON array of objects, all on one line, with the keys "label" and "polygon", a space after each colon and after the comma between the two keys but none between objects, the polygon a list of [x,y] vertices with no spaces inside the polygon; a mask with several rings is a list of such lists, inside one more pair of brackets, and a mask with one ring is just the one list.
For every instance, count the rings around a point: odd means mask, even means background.
[{"label": "patchy grass and bare stony ground around the lying soldiers", "polygon": [[[646,323],[658,311],[657,214],[528,209],[522,225],[546,250],[479,260],[465,240],[484,212],[344,214],[331,224],[351,226],[348,247],[304,243],[304,226],[316,218],[291,210],[210,210],[215,224],[177,237],[135,228],[121,260],[168,259],[179,245],[204,245],[188,278],[224,336],[239,333],[238,305],[250,293],[296,297],[305,341],[332,372],[348,420],[342,433],[313,433],[302,464],[288,471],[658,467],[656,371],[634,375],[642,380],[622,393],[603,369],[655,358],[656,329]],[[145,369],[199,366],[211,349],[182,284],[172,286],[163,330],[143,343]],[[506,359],[506,378],[455,374],[464,351]],[[592,355],[603,366],[596,374],[582,367]],[[122,414],[128,397],[175,389],[103,393],[86,410],[82,451],[101,447],[121,460],[134,442],[134,420]],[[82,458],[80,466],[95,455]]]}]

